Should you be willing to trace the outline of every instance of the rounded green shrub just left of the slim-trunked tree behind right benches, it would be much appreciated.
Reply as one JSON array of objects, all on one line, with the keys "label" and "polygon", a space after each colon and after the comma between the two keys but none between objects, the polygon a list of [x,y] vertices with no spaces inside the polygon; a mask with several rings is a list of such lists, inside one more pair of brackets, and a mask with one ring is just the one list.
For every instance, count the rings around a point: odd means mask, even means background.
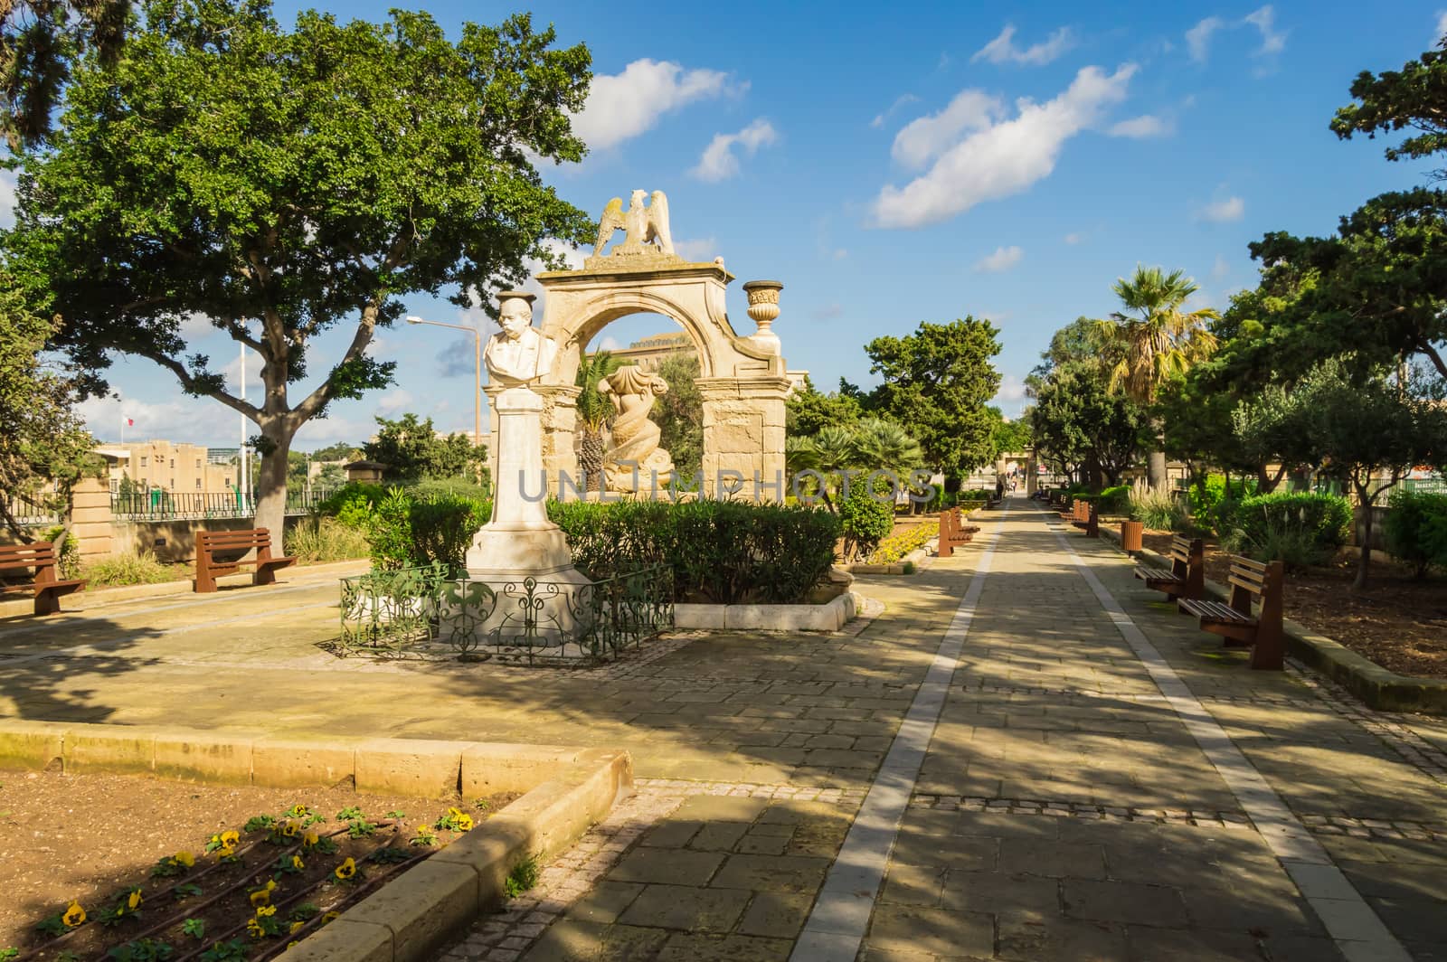
[{"label": "rounded green shrub just left of the slim-trunked tree behind right benches", "polygon": [[1308,558],[1298,563],[1321,564],[1347,542],[1351,529],[1351,505],[1336,495],[1278,492],[1256,495],[1234,505],[1221,545],[1257,561],[1286,560],[1282,545],[1307,544]]}]

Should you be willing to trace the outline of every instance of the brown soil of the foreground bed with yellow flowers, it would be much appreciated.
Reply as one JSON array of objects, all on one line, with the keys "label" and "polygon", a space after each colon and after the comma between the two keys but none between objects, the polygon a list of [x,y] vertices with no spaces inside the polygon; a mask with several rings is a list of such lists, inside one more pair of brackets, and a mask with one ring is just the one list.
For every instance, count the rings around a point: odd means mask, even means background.
[{"label": "brown soil of the foreground bed with yellow flowers", "polygon": [[[165,958],[174,962],[233,939],[245,956],[211,958],[266,958],[326,924],[327,913],[415,864],[404,859],[425,858],[457,838],[457,832],[431,829],[433,845],[411,845],[449,807],[482,822],[512,797],[449,803],[349,788],[220,787],[0,770],[0,891],[7,895],[0,901],[0,959],[7,948],[22,949],[20,959],[104,958],[109,948],[142,936],[172,946]],[[304,806],[305,813],[294,806]],[[347,809],[359,809],[375,830],[349,830],[350,823],[337,819]],[[324,820],[307,825],[311,813]],[[245,830],[258,816],[275,823]],[[239,836],[232,858],[207,852],[207,842],[227,830]],[[314,843],[308,832],[315,833]],[[171,865],[171,875],[152,874],[159,861],[178,852],[191,854],[194,867]],[[344,867],[349,858],[355,874]],[[350,877],[340,878],[339,868]],[[273,878],[273,891],[253,897]],[[200,891],[177,891],[187,885]],[[116,924],[103,924],[107,908],[126,904],[119,894],[137,887],[140,916],[127,911]],[[85,910],[85,924],[58,940],[35,930],[43,919],[65,913],[72,900]],[[259,916],[273,935],[247,933],[258,907],[275,907],[275,914]],[[200,920],[204,935],[182,932],[185,919]],[[295,933],[294,921],[302,923]]]}]

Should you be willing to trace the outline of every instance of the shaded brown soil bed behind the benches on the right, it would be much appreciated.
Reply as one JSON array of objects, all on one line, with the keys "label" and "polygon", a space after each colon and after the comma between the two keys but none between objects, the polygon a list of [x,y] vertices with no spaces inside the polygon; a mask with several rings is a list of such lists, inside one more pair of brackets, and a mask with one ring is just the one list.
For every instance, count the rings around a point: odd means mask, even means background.
[{"label": "shaded brown soil bed behind the benches on the right", "polygon": [[[1171,534],[1147,531],[1145,547],[1171,554]],[[1226,584],[1230,554],[1205,541],[1205,577]],[[1412,570],[1373,553],[1367,589],[1351,593],[1356,558],[1286,573],[1286,618],[1337,641],[1389,671],[1447,678],[1447,579],[1417,580]]]}]

